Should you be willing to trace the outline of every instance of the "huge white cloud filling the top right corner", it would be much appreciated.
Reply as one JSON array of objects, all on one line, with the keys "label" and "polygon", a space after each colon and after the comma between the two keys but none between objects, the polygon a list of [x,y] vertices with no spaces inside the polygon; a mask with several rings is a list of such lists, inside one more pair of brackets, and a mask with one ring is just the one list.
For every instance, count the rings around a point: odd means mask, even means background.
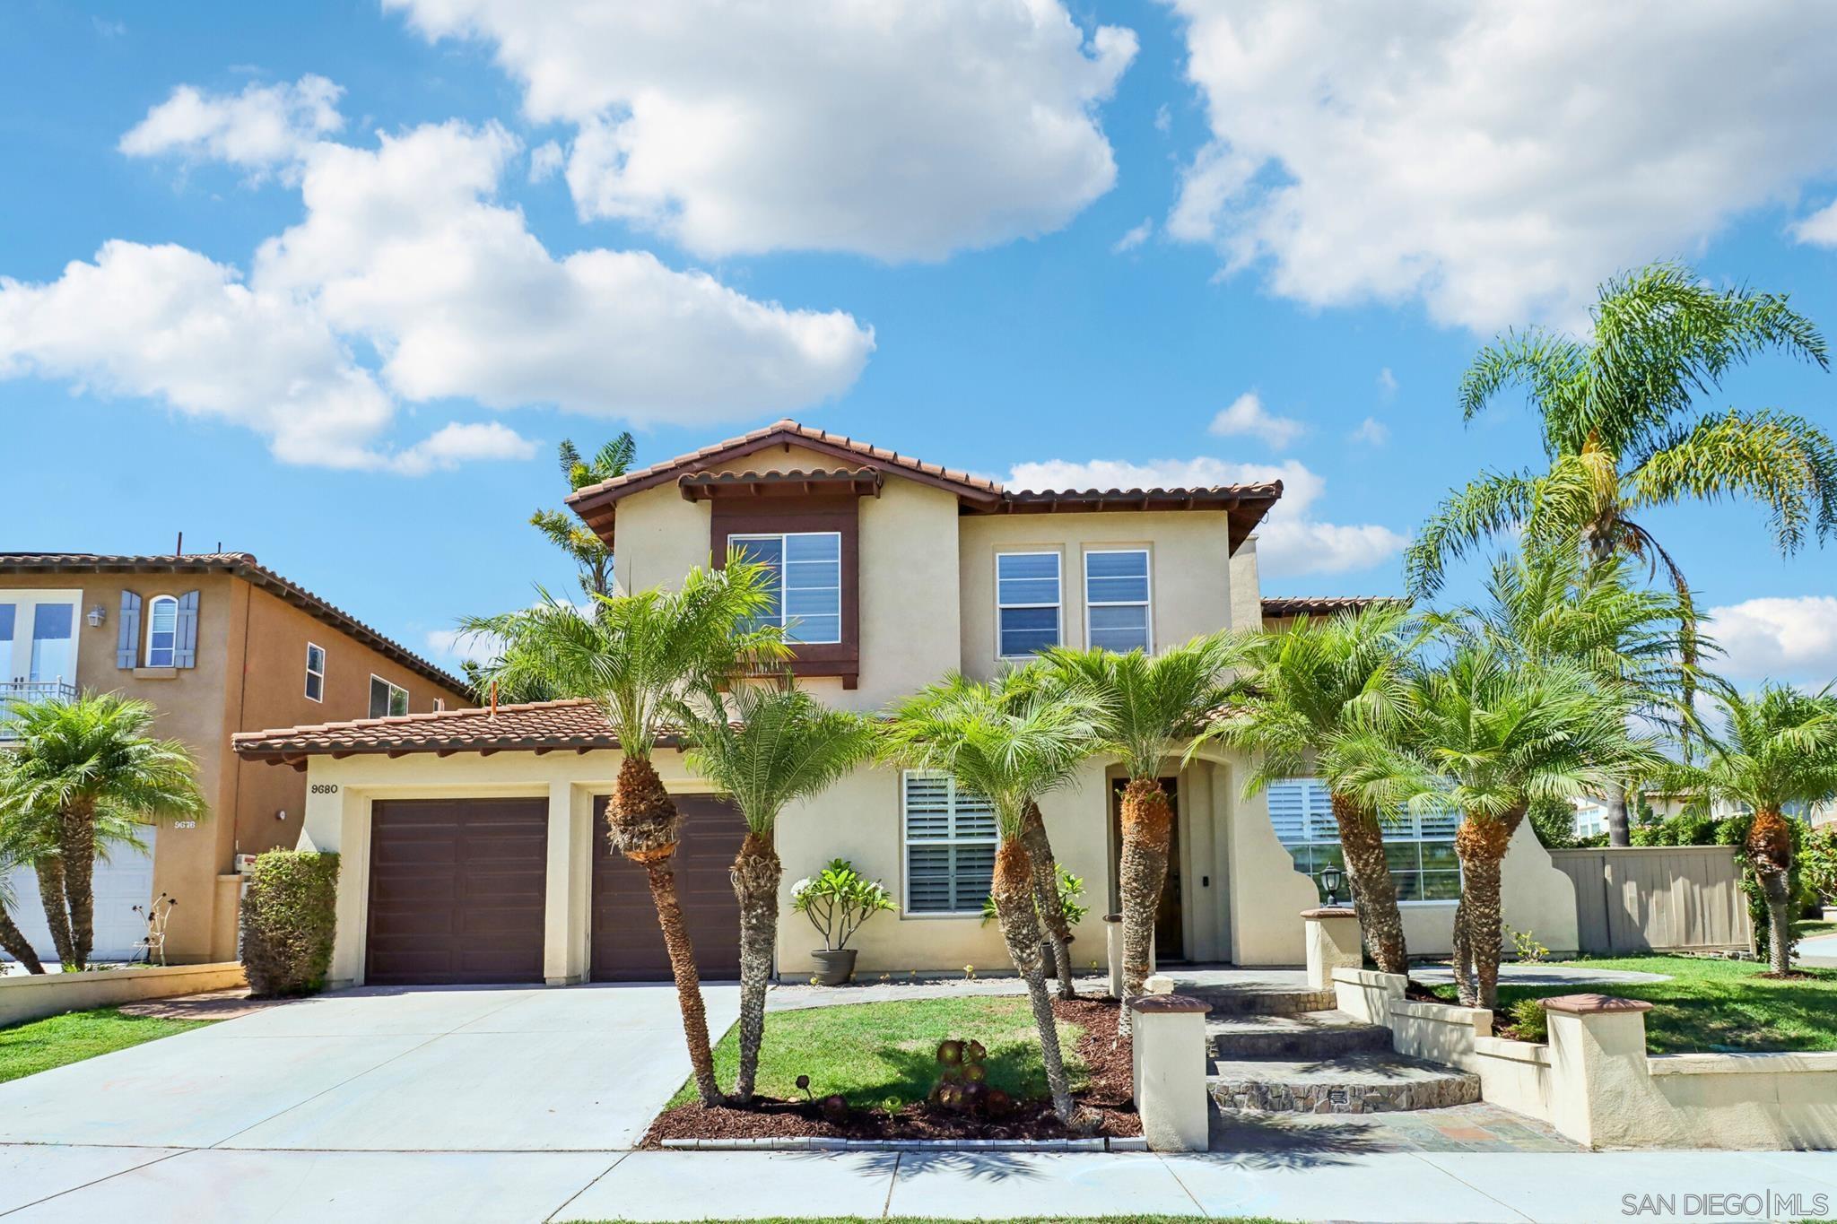
[{"label": "huge white cloud filling the top right corner", "polygon": [[1837,169],[1833,6],[1168,2],[1212,132],[1168,233],[1308,305],[1585,321]]}]

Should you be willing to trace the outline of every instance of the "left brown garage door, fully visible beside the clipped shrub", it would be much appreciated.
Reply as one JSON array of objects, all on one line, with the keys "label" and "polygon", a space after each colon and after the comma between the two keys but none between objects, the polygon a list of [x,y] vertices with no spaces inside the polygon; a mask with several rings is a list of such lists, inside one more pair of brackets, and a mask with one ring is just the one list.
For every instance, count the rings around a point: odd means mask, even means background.
[{"label": "left brown garage door, fully visible beside the clipped shrub", "polygon": [[373,804],[366,982],[540,982],[547,844],[542,798]]}]

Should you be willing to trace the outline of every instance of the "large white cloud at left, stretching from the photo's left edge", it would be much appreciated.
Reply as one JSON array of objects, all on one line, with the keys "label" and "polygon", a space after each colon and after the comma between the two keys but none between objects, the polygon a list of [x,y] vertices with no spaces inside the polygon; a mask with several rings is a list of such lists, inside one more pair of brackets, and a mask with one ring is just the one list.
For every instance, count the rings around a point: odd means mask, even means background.
[{"label": "large white cloud at left, stretching from the photo's left edge", "polygon": [[288,167],[305,218],[246,279],[134,242],[46,284],[0,279],[0,378],[162,400],[255,429],[285,462],[413,475],[531,451],[489,424],[391,451],[400,402],[709,424],[805,407],[860,374],[873,330],[847,314],[755,301],[645,251],[555,259],[490,200],[516,152],[463,123],[312,143]]}]

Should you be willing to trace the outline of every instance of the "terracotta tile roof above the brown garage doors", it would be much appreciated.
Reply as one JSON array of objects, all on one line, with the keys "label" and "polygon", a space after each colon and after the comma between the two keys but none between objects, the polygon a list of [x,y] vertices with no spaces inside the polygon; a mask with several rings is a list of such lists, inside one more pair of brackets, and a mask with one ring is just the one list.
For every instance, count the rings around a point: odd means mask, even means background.
[{"label": "terracotta tile roof above the brown garage doors", "polygon": [[549,752],[617,749],[619,738],[599,707],[580,697],[489,708],[434,710],[397,718],[364,718],[277,730],[246,730],[230,740],[252,762],[303,763],[307,756],[362,752]]}]

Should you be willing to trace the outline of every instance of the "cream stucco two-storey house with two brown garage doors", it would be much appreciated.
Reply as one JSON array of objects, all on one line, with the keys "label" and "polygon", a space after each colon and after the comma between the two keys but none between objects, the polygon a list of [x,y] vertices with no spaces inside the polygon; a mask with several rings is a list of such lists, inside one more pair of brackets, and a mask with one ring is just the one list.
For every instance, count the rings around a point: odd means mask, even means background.
[{"label": "cream stucco two-storey house with two brown garage doors", "polygon": [[[786,420],[582,488],[569,505],[614,545],[626,591],[676,584],[729,545],[770,562],[801,683],[838,707],[880,710],[950,670],[986,679],[1056,642],[1152,651],[1266,615],[1321,615],[1341,602],[1260,598],[1251,534],[1280,494],[1005,490]],[[239,736],[237,751],[303,769],[307,835],[344,855],[334,980],[667,976],[643,873],[608,850],[601,824],[619,751],[590,703],[268,730]],[[687,817],[676,872],[698,958],[707,976],[733,976],[727,866],[740,824],[672,747],[656,763]],[[1335,853],[1324,796],[1310,780],[1245,796],[1244,773],[1222,749],[1166,762],[1176,848],[1163,960],[1302,960],[1297,912],[1317,901],[1308,873]],[[1117,908],[1121,782],[1115,765],[1091,762],[1042,802],[1060,862],[1088,888],[1080,965],[1102,962],[1102,914]],[[1400,881],[1420,897],[1407,921],[1422,952],[1448,951],[1449,837],[1435,820],[1394,837]],[[862,767],[786,811],[777,848],[786,974],[808,973],[816,941],[790,912],[792,885],[832,857],[884,879],[900,905],[860,932],[863,974],[1007,960],[981,919],[994,818],[946,778]],[[1574,890],[1528,828],[1506,859],[1506,918],[1574,947]]]}]

